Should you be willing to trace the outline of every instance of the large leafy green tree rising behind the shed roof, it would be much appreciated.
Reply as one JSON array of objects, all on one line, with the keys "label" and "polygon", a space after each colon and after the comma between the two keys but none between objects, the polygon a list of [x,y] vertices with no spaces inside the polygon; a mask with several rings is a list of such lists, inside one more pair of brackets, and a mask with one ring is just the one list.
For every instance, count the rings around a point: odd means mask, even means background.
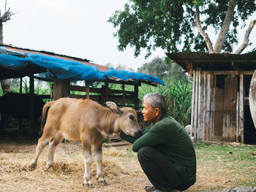
[{"label": "large leafy green tree rising behind the shed roof", "polygon": [[[156,47],[167,52],[233,52],[238,28],[245,27],[255,9],[255,0],[129,0],[108,22],[117,29],[118,50],[134,47],[135,56],[146,48],[147,57]],[[215,46],[207,34],[212,28],[218,37]]]}]

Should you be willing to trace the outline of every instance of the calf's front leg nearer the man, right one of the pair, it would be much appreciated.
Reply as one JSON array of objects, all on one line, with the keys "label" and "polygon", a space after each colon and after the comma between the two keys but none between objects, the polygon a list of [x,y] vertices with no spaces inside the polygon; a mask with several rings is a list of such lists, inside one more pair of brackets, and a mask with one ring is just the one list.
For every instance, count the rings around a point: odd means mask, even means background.
[{"label": "calf's front leg nearer the man, right one of the pair", "polygon": [[102,171],[102,142],[94,144],[94,151],[97,163],[97,181],[103,185],[108,185],[104,179],[104,172]]}]

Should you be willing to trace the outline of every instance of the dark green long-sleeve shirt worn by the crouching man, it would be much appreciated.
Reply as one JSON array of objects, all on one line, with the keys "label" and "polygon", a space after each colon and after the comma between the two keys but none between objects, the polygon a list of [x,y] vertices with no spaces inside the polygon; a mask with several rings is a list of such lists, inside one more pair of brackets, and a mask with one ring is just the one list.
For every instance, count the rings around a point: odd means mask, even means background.
[{"label": "dark green long-sleeve shirt worn by the crouching man", "polygon": [[196,156],[195,148],[187,131],[167,113],[160,120],[151,124],[139,138],[121,133],[121,138],[133,143],[132,150],[138,152],[140,147],[151,146],[172,161],[181,176],[182,183],[195,183]]}]

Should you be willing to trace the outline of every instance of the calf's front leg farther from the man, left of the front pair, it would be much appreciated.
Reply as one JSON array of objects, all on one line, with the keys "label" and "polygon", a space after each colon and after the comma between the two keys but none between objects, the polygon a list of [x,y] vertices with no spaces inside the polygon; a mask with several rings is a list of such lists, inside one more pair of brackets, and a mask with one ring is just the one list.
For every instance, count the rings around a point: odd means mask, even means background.
[{"label": "calf's front leg farther from the man, left of the front pair", "polygon": [[91,142],[89,142],[89,139],[81,139],[81,142],[83,145],[84,156],[83,185],[87,185],[89,188],[93,188],[90,174],[90,166],[92,163]]}]

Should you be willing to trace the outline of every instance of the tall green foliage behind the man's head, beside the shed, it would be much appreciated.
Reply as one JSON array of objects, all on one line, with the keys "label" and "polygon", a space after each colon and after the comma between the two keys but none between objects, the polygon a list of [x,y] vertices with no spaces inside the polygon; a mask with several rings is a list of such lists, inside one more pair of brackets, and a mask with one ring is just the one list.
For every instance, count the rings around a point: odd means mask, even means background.
[{"label": "tall green foliage behind the man's head, beside the shed", "polygon": [[181,125],[187,126],[191,111],[192,81],[164,78],[164,82],[164,86],[157,85],[157,87],[141,85],[139,88],[140,100],[143,101],[143,96],[147,93],[161,93],[169,103],[170,115],[178,120]]}]

